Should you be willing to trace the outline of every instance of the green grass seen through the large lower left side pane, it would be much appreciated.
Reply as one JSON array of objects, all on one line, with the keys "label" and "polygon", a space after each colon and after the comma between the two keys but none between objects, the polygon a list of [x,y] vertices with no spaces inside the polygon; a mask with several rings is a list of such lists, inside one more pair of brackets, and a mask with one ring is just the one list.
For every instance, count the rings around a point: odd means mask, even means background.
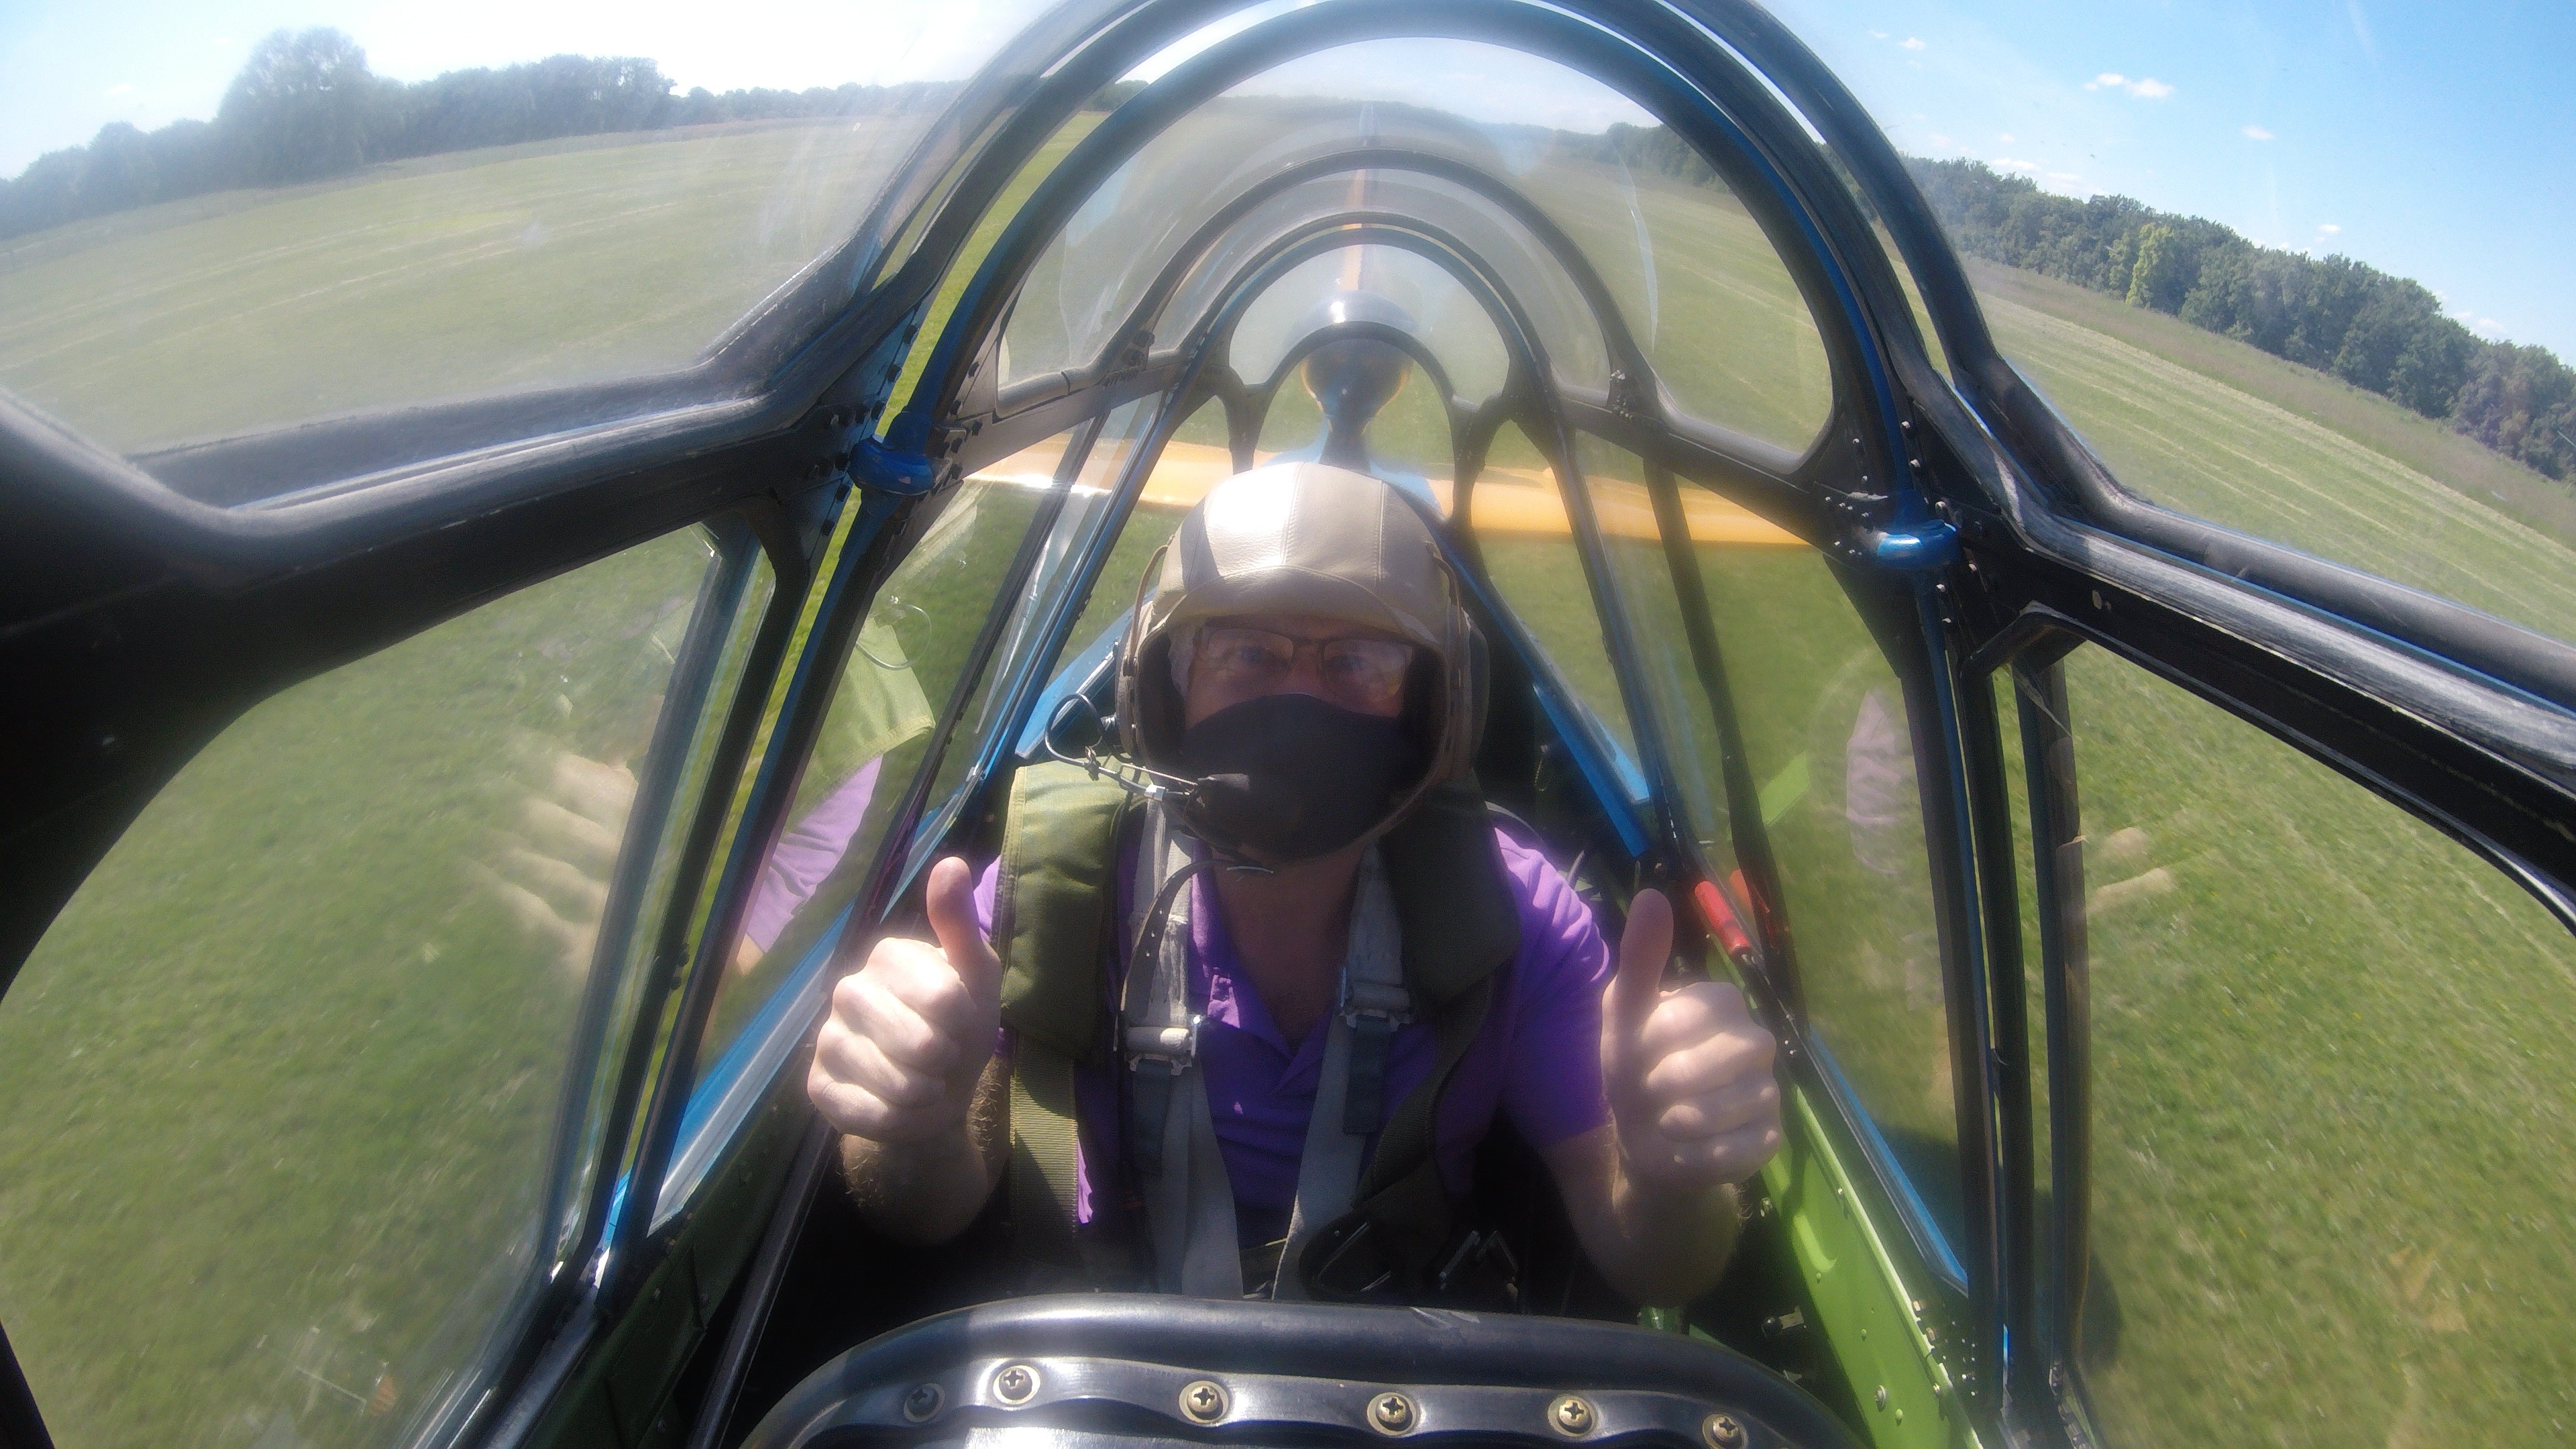
[{"label": "green grass seen through the large lower left side pane", "polygon": [[[482,869],[541,750],[639,745],[706,557],[629,549],[252,709],[46,933],[0,1011],[0,1315],[57,1441],[381,1439],[551,1250],[577,985]],[[307,1374],[392,1374],[394,1413]]]}]

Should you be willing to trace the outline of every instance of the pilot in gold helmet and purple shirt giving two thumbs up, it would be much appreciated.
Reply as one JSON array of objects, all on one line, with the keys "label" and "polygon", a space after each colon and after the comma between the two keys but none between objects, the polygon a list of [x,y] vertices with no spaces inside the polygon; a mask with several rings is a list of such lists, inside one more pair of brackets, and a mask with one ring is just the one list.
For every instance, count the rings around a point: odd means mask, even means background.
[{"label": "pilot in gold helmet and purple shirt giving two thumbs up", "polygon": [[1110,1284],[1440,1302],[1497,1271],[1461,1204],[1499,1114],[1610,1287],[1713,1287],[1775,1042],[1734,985],[1664,990],[1659,892],[1613,957],[1484,810],[1481,642],[1422,516],[1273,464],[1146,575],[1126,761],[1025,766],[1002,856],[933,866],[935,941],[832,993],[809,1093],[863,1217],[940,1243],[1007,1183],[1015,1243]]}]

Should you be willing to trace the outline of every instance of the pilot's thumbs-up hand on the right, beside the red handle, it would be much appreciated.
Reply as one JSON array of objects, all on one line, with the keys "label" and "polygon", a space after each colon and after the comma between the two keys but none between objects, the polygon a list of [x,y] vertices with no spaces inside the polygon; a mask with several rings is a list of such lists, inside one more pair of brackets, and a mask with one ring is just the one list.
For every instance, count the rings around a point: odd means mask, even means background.
[{"label": "pilot's thumbs-up hand on the right, beside the red handle", "polygon": [[1618,975],[1602,990],[1602,1085],[1628,1181],[1698,1191],[1754,1176],[1780,1147],[1777,1042],[1723,982],[1664,990],[1672,905],[1628,905]]}]

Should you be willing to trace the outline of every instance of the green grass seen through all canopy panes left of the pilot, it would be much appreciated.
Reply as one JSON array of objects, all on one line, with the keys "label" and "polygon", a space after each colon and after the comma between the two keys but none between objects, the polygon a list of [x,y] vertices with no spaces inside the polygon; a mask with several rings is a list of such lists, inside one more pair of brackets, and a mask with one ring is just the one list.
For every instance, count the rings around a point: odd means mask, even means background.
[{"label": "green grass seen through all canopy panes left of the pilot", "polygon": [[[0,276],[0,384],[144,449],[672,366],[840,237],[886,144],[515,147],[46,237]],[[969,554],[1007,557],[1028,503],[984,513]],[[474,1351],[538,1256],[574,1006],[484,871],[531,750],[641,745],[703,557],[647,544],[268,701],[49,931],[0,1008],[0,1320],[57,1441],[252,1444],[283,1415],[374,1444]],[[933,704],[987,603],[951,572],[899,629]],[[719,1042],[752,1000],[726,993]],[[379,1379],[381,1415],[343,1392]]]}]

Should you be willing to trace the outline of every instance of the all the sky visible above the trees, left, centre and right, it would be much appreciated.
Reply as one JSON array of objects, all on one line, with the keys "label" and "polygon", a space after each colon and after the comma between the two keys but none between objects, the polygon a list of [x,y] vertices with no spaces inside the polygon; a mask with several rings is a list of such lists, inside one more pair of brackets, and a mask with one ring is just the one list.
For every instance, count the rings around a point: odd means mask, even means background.
[{"label": "all the sky visible above the trees, left, centre and right", "polygon": [[[1293,3],[1293,0],[1288,0]],[[2576,361],[2571,0],[1772,0],[1901,150],[2050,191],[2117,191],[2282,248],[2432,286],[2470,327]],[[85,142],[211,116],[247,46],[332,23],[379,75],[554,52],[649,54],[680,85],[963,75],[1038,0],[15,0],[0,5],[0,175]],[[786,44],[781,44],[781,36]],[[1309,67],[1432,101],[1419,67]],[[1458,83],[1486,119],[1623,113],[1546,67]]]}]

